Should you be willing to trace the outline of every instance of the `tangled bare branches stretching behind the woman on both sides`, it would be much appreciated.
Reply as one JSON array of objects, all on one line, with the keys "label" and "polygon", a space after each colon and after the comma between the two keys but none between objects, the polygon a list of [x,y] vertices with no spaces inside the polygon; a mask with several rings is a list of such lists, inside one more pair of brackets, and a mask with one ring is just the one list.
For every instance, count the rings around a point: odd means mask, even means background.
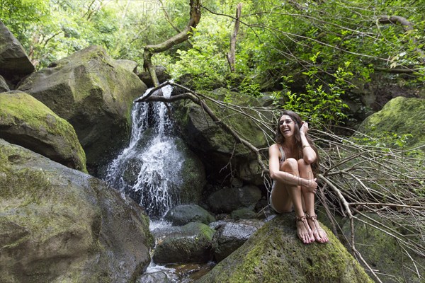
[{"label": "tangled bare branches stretching behind the woman on both sides", "polygon": [[[268,176],[267,156],[264,154],[266,149],[258,149],[243,139],[226,124],[224,117],[217,117],[205,101],[209,100],[220,108],[232,110],[234,115],[250,119],[270,144],[274,142],[273,125],[280,115],[276,108],[234,105],[212,99],[170,81],[162,83],[162,86],[166,84],[181,88],[186,93],[164,98],[152,95],[155,90],[153,89],[136,102],[174,102],[181,99],[193,101],[225,132],[231,134],[236,142],[242,143],[256,154],[263,175]],[[417,277],[421,278],[415,258],[425,257],[425,171],[421,160],[425,146],[407,151],[370,145],[372,143],[361,144],[359,140],[370,137],[358,132],[353,132],[354,137],[339,137],[330,131],[310,129],[309,134],[316,142],[321,156],[322,173],[317,175],[320,185],[318,199],[327,211],[336,236],[348,244],[353,255],[363,262],[378,282],[381,282],[378,273],[356,248],[354,226],[356,222],[363,223],[370,229],[385,233],[395,239],[402,253],[409,258],[412,266],[410,269],[415,270]],[[345,238],[338,226],[335,214],[346,216],[350,221],[349,239]]]}]

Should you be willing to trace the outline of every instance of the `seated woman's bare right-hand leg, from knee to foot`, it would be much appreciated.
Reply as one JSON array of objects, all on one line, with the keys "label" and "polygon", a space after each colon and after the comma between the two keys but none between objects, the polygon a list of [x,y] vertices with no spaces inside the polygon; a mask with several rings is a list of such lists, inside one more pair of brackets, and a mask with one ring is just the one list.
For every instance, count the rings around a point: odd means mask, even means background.
[{"label": "seated woman's bare right-hand leg, from knee to foot", "polygon": [[[298,160],[298,168],[300,177],[305,179],[313,179],[312,167],[310,164],[305,163],[304,159]],[[326,243],[329,241],[326,232],[319,226],[317,216],[314,213],[314,192],[308,191],[305,187],[301,187],[302,197],[305,203],[305,211],[307,212],[307,221],[313,231],[313,236],[319,243]]]}]

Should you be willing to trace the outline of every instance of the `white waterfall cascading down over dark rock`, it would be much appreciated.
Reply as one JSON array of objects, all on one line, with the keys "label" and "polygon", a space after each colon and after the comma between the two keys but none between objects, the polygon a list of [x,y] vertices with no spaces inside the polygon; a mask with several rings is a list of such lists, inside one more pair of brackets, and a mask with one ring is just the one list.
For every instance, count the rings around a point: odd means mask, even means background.
[{"label": "white waterfall cascading down over dark rock", "polygon": [[[164,86],[154,95],[169,97],[171,91]],[[151,219],[179,204],[183,156],[172,131],[164,103],[135,103],[130,144],[107,169],[106,181],[139,202]]]}]

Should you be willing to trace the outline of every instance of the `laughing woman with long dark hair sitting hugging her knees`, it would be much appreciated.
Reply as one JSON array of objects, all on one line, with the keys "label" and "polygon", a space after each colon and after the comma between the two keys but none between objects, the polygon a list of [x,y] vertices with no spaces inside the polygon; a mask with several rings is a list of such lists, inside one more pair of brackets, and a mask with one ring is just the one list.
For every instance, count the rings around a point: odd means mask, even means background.
[{"label": "laughing woman with long dark hair sitting hugging her knees", "polygon": [[273,179],[271,207],[278,213],[294,208],[297,234],[302,243],[326,243],[327,234],[314,213],[317,183],[317,149],[307,135],[307,122],[292,111],[283,111],[276,129],[276,144],[268,149],[268,168]]}]

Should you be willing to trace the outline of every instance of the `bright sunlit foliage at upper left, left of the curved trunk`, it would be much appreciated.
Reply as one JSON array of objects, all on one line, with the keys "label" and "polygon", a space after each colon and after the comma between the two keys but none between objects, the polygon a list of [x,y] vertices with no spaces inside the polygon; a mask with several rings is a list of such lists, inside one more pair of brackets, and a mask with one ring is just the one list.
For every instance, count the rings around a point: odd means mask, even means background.
[{"label": "bright sunlit foliage at upper left, left of the curved trunk", "polygon": [[[162,7],[149,1],[2,0],[0,19],[38,69],[90,45],[101,45],[116,59],[142,63],[143,45],[174,34],[162,11],[175,11],[178,3]],[[153,23],[162,30],[157,33]]]}]

